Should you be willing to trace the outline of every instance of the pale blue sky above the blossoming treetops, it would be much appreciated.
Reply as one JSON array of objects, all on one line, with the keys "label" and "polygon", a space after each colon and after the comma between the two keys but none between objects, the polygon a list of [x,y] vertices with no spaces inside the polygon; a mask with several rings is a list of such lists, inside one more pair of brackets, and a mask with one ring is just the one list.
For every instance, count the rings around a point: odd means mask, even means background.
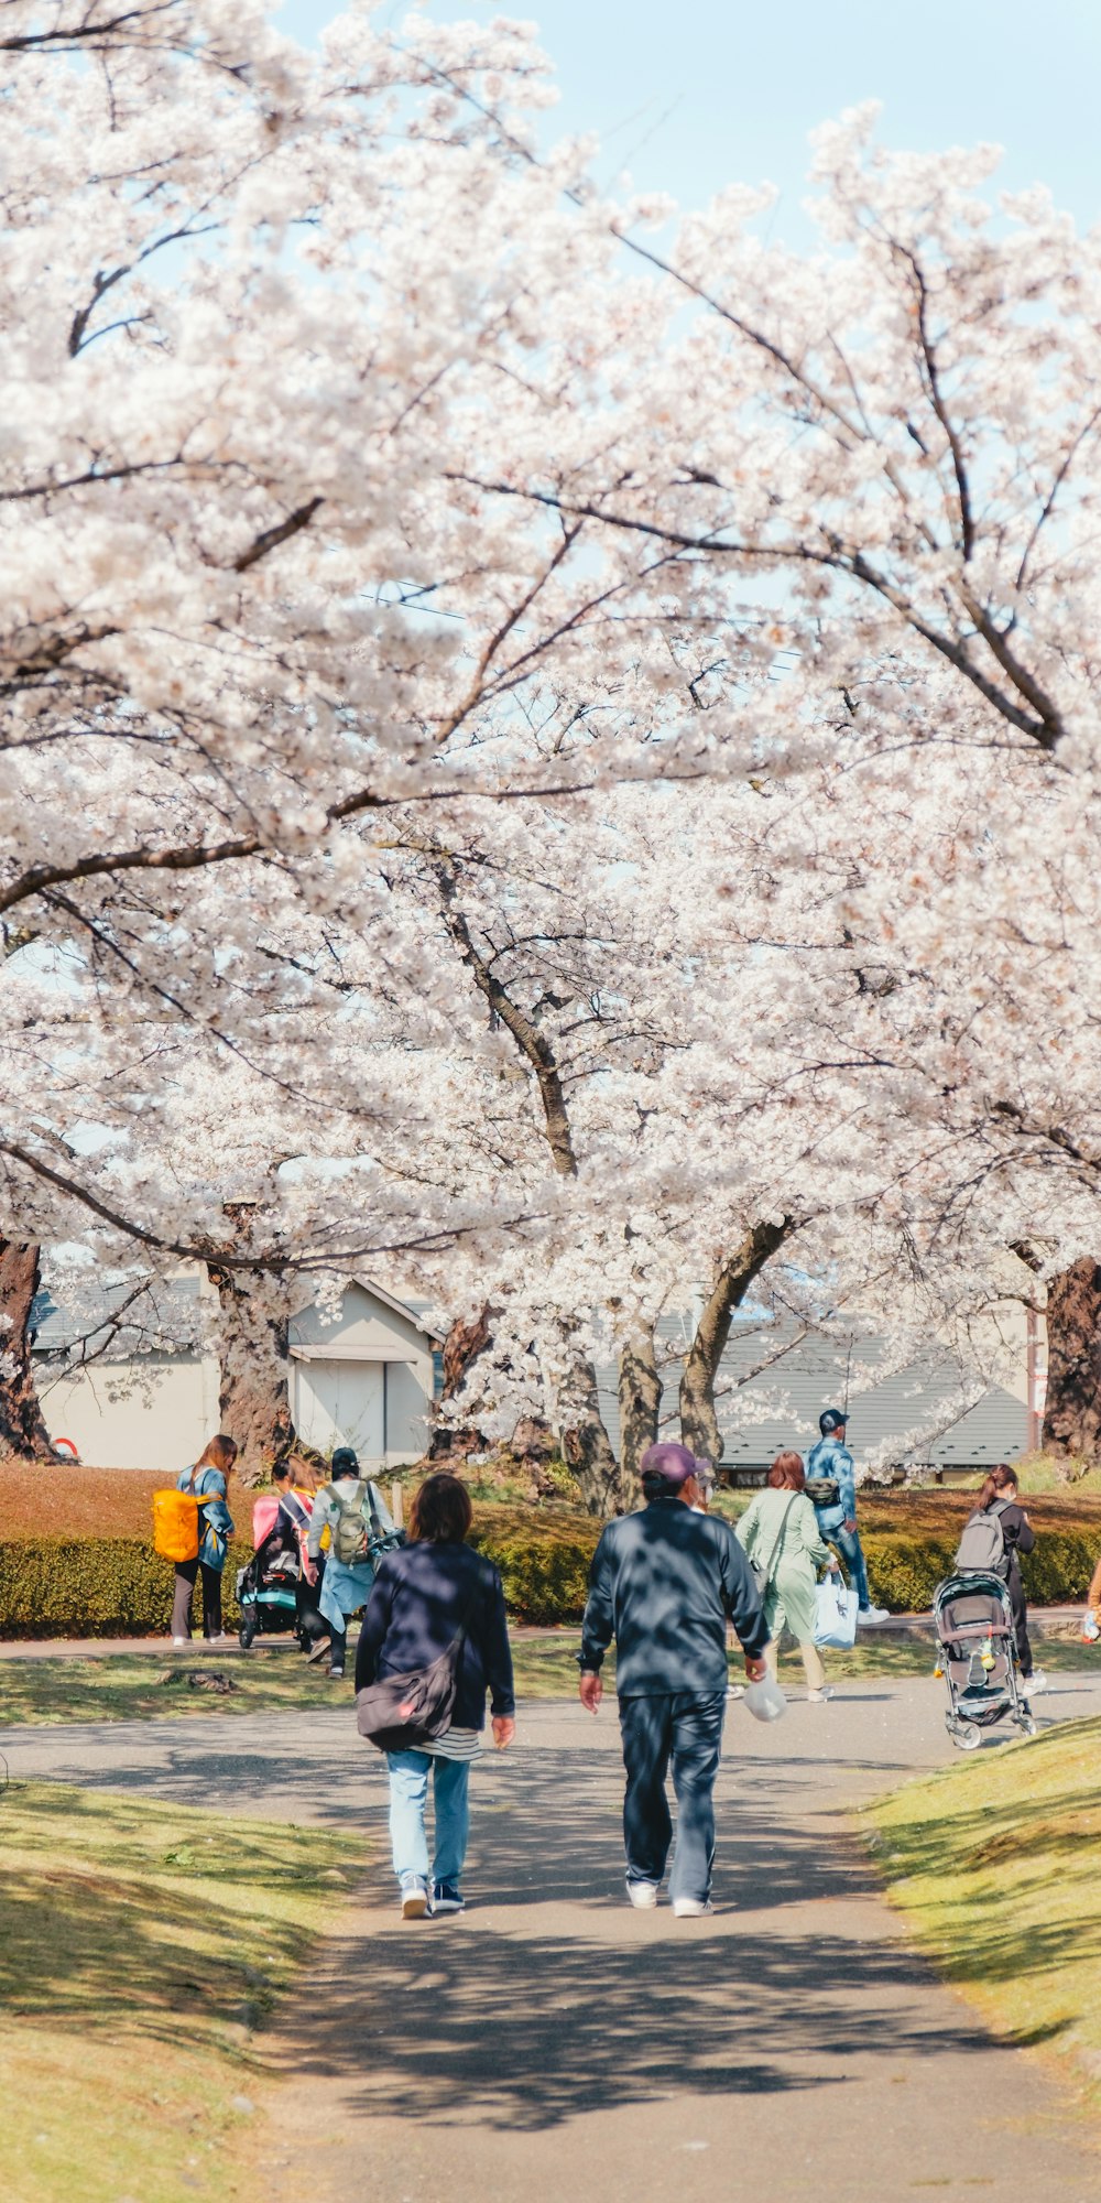
[{"label": "pale blue sky above the blossoming treetops", "polygon": [[[286,0],[313,37],[339,9]],[[394,0],[383,20],[401,24]],[[775,183],[775,234],[806,240],[806,137],[883,101],[887,145],[993,139],[1002,183],[1048,183],[1081,227],[1101,218],[1101,0],[436,0],[478,22],[533,18],[559,73],[550,128],[597,132],[599,176],[700,205],[727,183]]]}]

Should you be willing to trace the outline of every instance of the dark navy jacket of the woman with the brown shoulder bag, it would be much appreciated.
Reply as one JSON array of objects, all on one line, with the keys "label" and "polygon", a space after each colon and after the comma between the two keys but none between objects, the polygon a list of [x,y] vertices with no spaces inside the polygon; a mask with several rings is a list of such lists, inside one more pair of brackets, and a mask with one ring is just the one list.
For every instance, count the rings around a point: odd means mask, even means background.
[{"label": "dark navy jacket of the woman with the brown shoulder bag", "polygon": [[484,1729],[487,1690],[495,1714],[515,1714],[500,1571],[469,1544],[425,1538],[383,1555],[359,1632],[355,1687],[429,1668],[458,1637],[467,1610],[451,1725]]}]

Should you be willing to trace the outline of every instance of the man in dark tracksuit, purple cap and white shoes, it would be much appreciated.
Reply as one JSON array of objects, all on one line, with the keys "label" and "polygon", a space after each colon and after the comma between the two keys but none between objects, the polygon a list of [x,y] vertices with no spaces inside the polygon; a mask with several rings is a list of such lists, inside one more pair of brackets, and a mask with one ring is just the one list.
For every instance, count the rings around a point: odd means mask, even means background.
[{"label": "man in dark tracksuit, purple cap and white shoes", "polygon": [[674,1771],[678,1919],[709,1910],[716,1855],[713,1787],[727,1710],[727,1617],[751,1683],[764,1676],[768,1630],[749,1562],[729,1522],[694,1513],[696,1456],[685,1445],[643,1454],[641,1513],[608,1522],[592,1555],[581,1624],[581,1703],[597,1712],[601,1661],[617,1641],[619,1725],[628,1791],[628,1897],[658,1901],[672,1842],[665,1776]]}]

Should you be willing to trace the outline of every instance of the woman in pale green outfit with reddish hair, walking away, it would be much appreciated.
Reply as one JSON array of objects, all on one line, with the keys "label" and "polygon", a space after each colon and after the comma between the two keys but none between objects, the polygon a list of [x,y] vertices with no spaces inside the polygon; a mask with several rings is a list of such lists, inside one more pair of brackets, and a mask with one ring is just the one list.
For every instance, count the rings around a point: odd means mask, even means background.
[{"label": "woman in pale green outfit with reddish hair, walking away", "polygon": [[[780,1635],[784,1626],[795,1637],[804,1654],[806,1696],[813,1705],[832,1699],[826,1683],[826,1668],[815,1643],[815,1599],[817,1571],[837,1571],[837,1555],[819,1533],[815,1509],[806,1496],[806,1476],[799,1454],[777,1454],[768,1469],[768,1485],[757,1491],[735,1527],[757,1588],[764,1599],[764,1621],[768,1646],[764,1659],[777,1672]],[[764,1571],[764,1582],[762,1573]]]}]

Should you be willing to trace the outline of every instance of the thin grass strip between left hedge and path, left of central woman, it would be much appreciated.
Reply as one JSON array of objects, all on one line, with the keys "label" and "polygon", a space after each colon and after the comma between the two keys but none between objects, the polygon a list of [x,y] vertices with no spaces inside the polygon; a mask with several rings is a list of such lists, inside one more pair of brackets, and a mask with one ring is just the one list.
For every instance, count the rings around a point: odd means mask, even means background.
[{"label": "thin grass strip between left hedge and path, left of central woman", "polygon": [[[233,1690],[192,1690],[174,1674],[225,1676]],[[352,1679],[330,1681],[324,1663],[253,1646],[244,1657],[108,1652],[99,1659],[0,1661],[0,1727],[57,1721],[178,1721],[192,1714],[308,1712],[350,1705]]]}]

